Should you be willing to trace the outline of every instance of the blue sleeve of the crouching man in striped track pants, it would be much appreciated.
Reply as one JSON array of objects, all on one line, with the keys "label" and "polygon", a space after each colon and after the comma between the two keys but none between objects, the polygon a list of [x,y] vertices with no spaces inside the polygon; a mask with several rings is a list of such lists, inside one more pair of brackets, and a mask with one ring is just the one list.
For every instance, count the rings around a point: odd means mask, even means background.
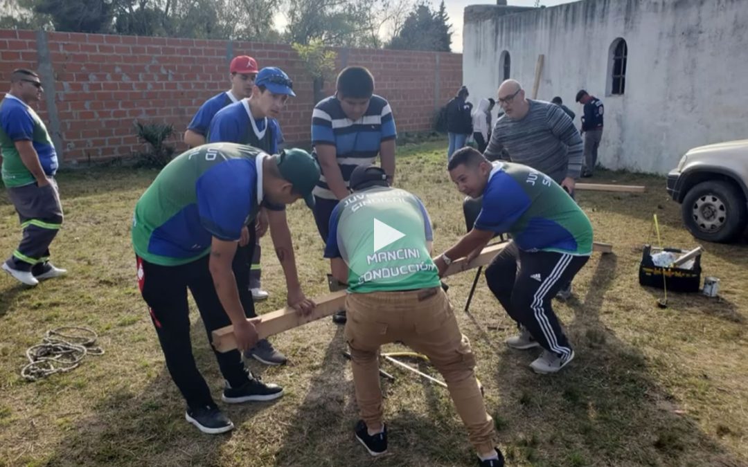
[{"label": "blue sleeve of the crouching man in striped track pants", "polygon": [[[491,182],[493,186],[490,185]],[[531,204],[530,197],[518,182],[506,173],[497,173],[489,181],[488,189],[483,195],[483,205],[475,221],[475,228],[496,233],[509,232]]]}]

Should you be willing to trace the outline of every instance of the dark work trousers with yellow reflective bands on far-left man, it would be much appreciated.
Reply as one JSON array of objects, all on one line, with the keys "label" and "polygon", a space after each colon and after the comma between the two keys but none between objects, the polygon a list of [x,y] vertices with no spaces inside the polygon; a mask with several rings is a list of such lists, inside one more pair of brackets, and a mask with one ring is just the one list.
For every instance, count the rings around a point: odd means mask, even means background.
[{"label": "dark work trousers with yellow reflective bands on far-left man", "polygon": [[16,270],[30,270],[35,275],[45,273],[49,266],[49,245],[62,226],[62,205],[55,179],[49,185],[31,185],[7,189],[10,202],[16,208],[23,229],[23,237],[7,265]]}]

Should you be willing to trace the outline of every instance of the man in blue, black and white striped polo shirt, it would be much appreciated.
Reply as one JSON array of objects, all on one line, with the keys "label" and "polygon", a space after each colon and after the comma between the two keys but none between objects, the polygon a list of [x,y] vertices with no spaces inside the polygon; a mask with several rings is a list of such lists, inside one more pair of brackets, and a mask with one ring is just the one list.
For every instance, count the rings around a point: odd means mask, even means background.
[{"label": "man in blue, black and white striped polo shirt", "polygon": [[[379,155],[392,184],[396,136],[392,109],[386,99],[374,94],[371,72],[364,67],[343,69],[337,75],[335,95],[317,103],[312,114],[312,144],[322,168],[313,192],[313,213],[322,241],[327,241],[333,209],[351,193],[349,181],[356,167],[372,164]],[[340,258],[331,259],[331,270],[347,267]],[[333,321],[343,324],[345,319],[341,312]]]}]

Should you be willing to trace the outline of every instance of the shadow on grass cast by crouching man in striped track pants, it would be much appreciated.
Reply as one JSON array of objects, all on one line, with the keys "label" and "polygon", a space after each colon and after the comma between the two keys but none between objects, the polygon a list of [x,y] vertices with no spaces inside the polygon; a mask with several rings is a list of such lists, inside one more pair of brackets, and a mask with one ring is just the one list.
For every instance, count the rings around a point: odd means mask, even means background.
[{"label": "shadow on grass cast by crouching man in striped track pants", "polygon": [[[646,357],[600,320],[617,258],[598,262],[566,327],[576,358],[555,375],[533,374],[537,352],[506,349],[495,412],[510,463],[553,466],[738,466],[740,461],[672,411],[675,398],[650,376]],[[670,409],[663,409],[669,406]]]}]

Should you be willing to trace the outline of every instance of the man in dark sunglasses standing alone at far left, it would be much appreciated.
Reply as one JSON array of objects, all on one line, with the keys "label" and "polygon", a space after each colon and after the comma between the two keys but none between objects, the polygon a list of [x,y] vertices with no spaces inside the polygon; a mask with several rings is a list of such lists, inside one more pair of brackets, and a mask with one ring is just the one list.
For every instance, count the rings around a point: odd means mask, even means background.
[{"label": "man in dark sunglasses standing alone at far left", "polygon": [[49,245],[62,225],[52,138],[31,104],[43,92],[39,75],[15,69],[10,91],[0,102],[2,181],[18,212],[23,238],[2,269],[25,285],[67,273],[49,262]]}]

